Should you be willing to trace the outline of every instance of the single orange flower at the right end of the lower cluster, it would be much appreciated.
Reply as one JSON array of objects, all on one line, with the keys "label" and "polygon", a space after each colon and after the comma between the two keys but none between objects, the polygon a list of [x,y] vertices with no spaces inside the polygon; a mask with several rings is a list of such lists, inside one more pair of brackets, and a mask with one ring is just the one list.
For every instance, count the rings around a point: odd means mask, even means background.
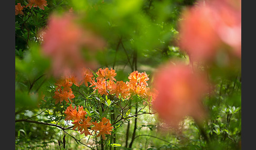
[{"label": "single orange flower at the right end of the lower cluster", "polygon": [[105,140],[105,134],[111,135],[111,131],[114,128],[113,126],[111,126],[112,124],[110,123],[110,120],[106,119],[105,117],[103,117],[100,123],[96,123],[96,121],[93,122],[93,125],[94,126],[92,127],[92,130],[100,131],[97,137],[102,135],[103,140]]}]

